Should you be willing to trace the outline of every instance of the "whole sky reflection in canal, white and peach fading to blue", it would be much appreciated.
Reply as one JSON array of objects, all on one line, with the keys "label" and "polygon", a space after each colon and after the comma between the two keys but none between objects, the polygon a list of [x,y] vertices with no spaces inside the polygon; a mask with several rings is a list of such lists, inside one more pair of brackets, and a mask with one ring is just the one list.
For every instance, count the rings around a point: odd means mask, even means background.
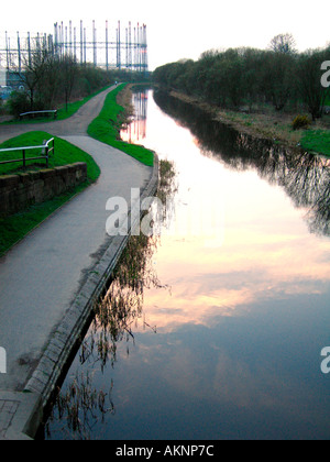
[{"label": "whole sky reflection in canal, white and peach fading to blue", "polygon": [[143,144],[179,175],[172,231],[201,208],[221,229],[162,238],[154,264],[172,290],[145,292],[157,333],[136,327],[130,354],[122,342],[114,367],[95,371],[102,389],[113,380],[116,406],[96,438],[329,439],[330,240],[280,187],[200,155],[151,98],[147,110]]}]

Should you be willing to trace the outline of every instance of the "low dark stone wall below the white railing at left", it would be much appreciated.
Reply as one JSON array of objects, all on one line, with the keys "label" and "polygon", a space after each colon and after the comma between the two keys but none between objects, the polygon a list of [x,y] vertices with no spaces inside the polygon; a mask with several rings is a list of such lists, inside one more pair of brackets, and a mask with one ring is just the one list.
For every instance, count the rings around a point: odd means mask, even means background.
[{"label": "low dark stone wall below the white railing at left", "polygon": [[63,167],[0,176],[0,217],[25,210],[53,199],[86,182],[87,165],[79,162]]}]

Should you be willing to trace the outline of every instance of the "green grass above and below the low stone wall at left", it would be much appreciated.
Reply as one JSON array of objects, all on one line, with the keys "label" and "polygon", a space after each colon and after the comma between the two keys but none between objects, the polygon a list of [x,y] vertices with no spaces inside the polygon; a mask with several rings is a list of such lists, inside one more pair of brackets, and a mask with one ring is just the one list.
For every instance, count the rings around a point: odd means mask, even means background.
[{"label": "green grass above and below the low stone wall at left", "polygon": [[[50,133],[30,132],[7,141],[0,146],[0,148],[37,145],[42,144],[43,140],[50,140],[51,138],[53,136]],[[0,256],[3,255],[12,245],[23,239],[30,231],[36,228],[42,221],[50,217],[50,215],[52,215],[55,210],[62,207],[78,193],[82,191],[99,177],[100,168],[89,154],[58,138],[55,138],[55,156],[50,160],[50,167],[52,168],[73,164],[75,162],[86,162],[88,176],[87,182],[79,185],[72,191],[52,200],[32,206],[24,212],[0,219]],[[7,158],[19,158],[18,154],[20,156],[19,152],[8,153]],[[1,158],[4,160],[3,154],[1,155]],[[41,165],[31,165],[30,168],[37,169],[41,168]],[[42,164],[42,168],[45,168],[44,163]],[[20,174],[22,173],[22,169],[18,169],[15,164],[0,166],[0,175],[12,173]]]}]

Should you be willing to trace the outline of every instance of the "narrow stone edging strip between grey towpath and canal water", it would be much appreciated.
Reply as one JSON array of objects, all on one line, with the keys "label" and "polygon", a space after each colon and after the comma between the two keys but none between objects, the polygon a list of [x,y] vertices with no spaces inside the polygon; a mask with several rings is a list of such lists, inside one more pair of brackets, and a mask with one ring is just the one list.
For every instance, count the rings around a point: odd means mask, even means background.
[{"label": "narrow stone edging strip between grey towpath and canal water", "polygon": [[[153,173],[148,185],[141,194],[141,201],[155,195],[158,187],[160,162],[155,154]],[[132,211],[130,211],[132,215]],[[136,216],[135,213],[133,215]],[[125,249],[132,229],[140,224],[132,223],[129,235],[109,238],[102,257],[89,271],[86,283],[68,308],[52,340],[47,344],[32,377],[23,393],[1,393],[6,409],[1,413],[6,421],[0,421],[0,440],[32,440],[42,424],[44,409],[56,388],[68,361],[81,340],[81,333],[92,316],[95,302],[100,298],[116,265]]]}]

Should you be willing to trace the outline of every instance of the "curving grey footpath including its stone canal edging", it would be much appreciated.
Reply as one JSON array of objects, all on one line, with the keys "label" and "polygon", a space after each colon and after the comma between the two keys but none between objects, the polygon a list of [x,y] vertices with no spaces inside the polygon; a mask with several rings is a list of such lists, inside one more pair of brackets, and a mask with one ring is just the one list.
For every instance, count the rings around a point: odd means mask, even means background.
[{"label": "curving grey footpath including its stone canal edging", "polygon": [[0,373],[0,440],[31,439],[43,408],[90,317],[128,237],[106,233],[110,197],[131,204],[131,188],[154,195],[154,168],[87,135],[106,96],[86,103],[66,121],[0,125],[0,142],[42,130],[94,156],[98,182],[76,196],[0,258],[0,346],[7,373]]}]

